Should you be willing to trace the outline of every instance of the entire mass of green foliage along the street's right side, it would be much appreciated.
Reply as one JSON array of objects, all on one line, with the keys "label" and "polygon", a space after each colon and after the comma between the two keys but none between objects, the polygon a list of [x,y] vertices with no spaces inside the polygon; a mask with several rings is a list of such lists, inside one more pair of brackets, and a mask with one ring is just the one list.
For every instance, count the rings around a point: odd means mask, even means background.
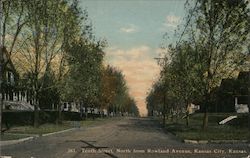
[{"label": "entire mass of green foliage along the street's right side", "polygon": [[[176,45],[168,46],[170,59],[164,59],[160,79],[147,98],[150,111],[162,112],[164,99],[157,97],[159,93],[166,97],[168,108],[198,103],[207,110],[221,80],[247,69],[248,1],[198,0],[195,4],[187,3],[192,8],[188,10],[183,36]],[[164,88],[159,89],[156,85]],[[204,127],[207,120],[206,115]]]}]

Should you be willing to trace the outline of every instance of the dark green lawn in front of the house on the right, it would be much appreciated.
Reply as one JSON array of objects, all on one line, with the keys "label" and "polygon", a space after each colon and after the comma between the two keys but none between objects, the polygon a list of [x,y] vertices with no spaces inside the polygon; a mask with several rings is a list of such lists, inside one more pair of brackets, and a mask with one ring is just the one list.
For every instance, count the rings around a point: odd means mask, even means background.
[{"label": "dark green lawn in front of the house on the right", "polygon": [[[218,123],[230,115],[237,115],[238,119],[225,125]],[[166,121],[166,130],[174,133],[181,139],[192,140],[249,140],[250,132],[247,128],[247,115],[242,114],[209,114],[207,130],[202,130],[203,114],[190,116],[190,125],[186,126],[186,120],[178,122]]]}]

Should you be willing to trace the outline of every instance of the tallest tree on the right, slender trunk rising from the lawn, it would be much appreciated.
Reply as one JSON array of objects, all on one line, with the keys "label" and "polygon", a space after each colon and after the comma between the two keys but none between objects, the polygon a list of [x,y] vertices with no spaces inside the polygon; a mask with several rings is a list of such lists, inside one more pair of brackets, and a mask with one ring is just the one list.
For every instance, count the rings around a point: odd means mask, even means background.
[{"label": "tallest tree on the right, slender trunk rising from the lawn", "polygon": [[187,33],[203,65],[204,121],[208,123],[211,91],[221,79],[231,77],[246,61],[249,41],[249,4],[240,0],[198,0]]}]

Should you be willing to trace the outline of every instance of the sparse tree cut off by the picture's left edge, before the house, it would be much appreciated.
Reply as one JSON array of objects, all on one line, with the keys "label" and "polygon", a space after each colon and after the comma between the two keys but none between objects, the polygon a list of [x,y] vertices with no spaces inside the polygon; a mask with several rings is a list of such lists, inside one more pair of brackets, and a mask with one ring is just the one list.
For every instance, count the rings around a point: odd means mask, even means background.
[{"label": "sparse tree cut off by the picture's left edge, before the house", "polygon": [[[13,49],[16,45],[16,41],[18,36],[20,35],[23,26],[25,25],[26,21],[25,14],[24,14],[24,1],[18,0],[5,0],[0,1],[0,9],[1,9],[1,57],[3,58],[3,50],[5,53],[8,54],[10,58],[7,61],[3,61],[1,59],[1,77],[4,74],[6,63],[8,63],[11,59],[11,55]],[[1,79],[1,84],[5,84],[4,78]],[[3,93],[3,87],[1,85],[1,93]],[[0,111],[0,131],[2,134],[2,107],[3,107],[3,98],[1,99],[1,111]]]}]

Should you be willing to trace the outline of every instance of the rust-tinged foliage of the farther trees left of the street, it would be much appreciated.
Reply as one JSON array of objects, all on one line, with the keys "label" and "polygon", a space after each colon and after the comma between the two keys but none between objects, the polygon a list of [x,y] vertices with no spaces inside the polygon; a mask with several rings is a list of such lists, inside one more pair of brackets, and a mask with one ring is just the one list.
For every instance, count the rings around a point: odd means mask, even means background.
[{"label": "rust-tinged foliage of the farther trees left of the street", "polygon": [[128,94],[128,87],[122,72],[114,67],[104,67],[101,81],[100,101],[102,108],[110,112],[128,112],[139,115],[135,101]]}]

